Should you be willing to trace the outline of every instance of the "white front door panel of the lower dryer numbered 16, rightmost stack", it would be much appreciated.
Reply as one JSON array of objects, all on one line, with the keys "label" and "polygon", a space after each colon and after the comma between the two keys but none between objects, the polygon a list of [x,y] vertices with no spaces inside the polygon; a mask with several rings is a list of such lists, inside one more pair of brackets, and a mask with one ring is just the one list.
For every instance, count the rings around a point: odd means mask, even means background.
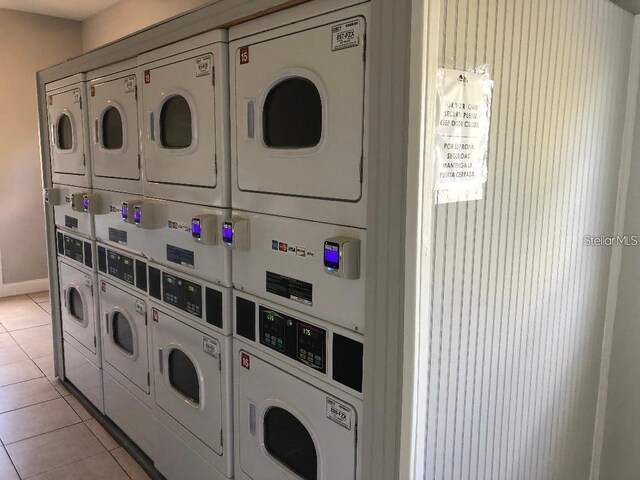
[{"label": "white front door panel of the lower dryer numbered 16, rightmost stack", "polygon": [[358,414],[350,402],[242,350],[234,368],[245,474],[253,480],[355,479]]}]

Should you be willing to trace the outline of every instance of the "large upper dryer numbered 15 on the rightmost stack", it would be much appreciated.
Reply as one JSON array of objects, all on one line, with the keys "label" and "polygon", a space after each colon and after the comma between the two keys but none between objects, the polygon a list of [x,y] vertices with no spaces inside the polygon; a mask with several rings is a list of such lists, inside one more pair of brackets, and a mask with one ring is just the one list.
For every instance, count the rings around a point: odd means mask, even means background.
[{"label": "large upper dryer numbered 15 on the rightmost stack", "polygon": [[234,209],[366,226],[370,7],[344,4],[229,30]]}]

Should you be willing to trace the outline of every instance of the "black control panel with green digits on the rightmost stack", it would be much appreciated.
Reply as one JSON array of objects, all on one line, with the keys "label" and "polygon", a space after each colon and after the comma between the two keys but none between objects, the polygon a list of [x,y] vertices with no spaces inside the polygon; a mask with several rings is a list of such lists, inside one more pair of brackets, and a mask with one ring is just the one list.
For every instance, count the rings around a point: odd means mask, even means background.
[{"label": "black control panel with green digits on the rightmost stack", "polygon": [[260,306],[260,343],[326,373],[326,330]]}]

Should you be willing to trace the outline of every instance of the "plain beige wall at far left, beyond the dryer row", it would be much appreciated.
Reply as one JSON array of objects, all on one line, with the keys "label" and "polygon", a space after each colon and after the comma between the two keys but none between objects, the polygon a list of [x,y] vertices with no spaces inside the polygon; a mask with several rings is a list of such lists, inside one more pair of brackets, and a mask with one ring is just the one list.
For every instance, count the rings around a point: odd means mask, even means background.
[{"label": "plain beige wall at far left, beyond the dryer row", "polygon": [[[0,278],[4,284],[47,276],[35,74],[78,55],[81,45],[79,22],[0,9]],[[15,293],[0,285],[0,296],[7,292]]]}]

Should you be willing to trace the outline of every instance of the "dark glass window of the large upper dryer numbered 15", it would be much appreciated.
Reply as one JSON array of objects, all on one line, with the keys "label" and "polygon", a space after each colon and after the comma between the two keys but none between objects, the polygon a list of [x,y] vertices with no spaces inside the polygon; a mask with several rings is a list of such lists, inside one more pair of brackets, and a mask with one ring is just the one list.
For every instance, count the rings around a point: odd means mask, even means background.
[{"label": "dark glass window of the large upper dryer numbered 15", "polygon": [[293,77],[274,86],[264,102],[265,145],[273,148],[311,148],[322,136],[322,100],[313,82]]}]

